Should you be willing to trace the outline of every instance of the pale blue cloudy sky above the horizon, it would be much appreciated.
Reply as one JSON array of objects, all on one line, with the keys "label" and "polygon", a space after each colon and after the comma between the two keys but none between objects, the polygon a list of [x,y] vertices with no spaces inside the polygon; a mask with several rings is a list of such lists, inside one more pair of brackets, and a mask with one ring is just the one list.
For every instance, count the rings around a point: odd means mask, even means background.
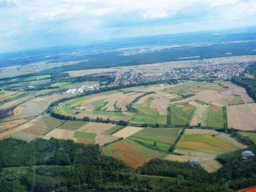
[{"label": "pale blue cloudy sky above the horizon", "polygon": [[0,52],[256,26],[256,0],[0,0]]}]

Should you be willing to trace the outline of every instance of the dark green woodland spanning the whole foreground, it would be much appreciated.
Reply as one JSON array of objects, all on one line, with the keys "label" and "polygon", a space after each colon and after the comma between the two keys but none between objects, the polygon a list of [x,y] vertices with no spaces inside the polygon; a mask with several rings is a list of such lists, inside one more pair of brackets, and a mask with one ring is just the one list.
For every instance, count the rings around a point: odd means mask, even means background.
[{"label": "dark green woodland spanning the whole foreground", "polygon": [[[256,146],[250,147],[256,153]],[[207,173],[189,163],[152,159],[133,170],[102,156],[99,145],[71,140],[0,141],[1,191],[234,191],[256,184],[255,159],[223,155],[223,168]]]}]

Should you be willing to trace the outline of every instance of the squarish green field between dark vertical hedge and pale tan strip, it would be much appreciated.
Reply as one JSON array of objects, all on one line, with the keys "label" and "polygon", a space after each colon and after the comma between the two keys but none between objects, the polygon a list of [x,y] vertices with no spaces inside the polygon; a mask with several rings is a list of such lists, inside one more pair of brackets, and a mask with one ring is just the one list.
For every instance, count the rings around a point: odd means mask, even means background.
[{"label": "squarish green field between dark vertical hedge and pale tan strip", "polygon": [[186,104],[171,106],[171,124],[188,125],[195,112],[195,107]]}]

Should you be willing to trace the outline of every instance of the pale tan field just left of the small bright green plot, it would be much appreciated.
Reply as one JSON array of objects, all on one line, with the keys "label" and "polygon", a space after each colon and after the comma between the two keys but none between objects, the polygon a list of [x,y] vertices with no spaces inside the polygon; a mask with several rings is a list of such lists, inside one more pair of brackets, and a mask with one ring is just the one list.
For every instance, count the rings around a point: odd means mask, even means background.
[{"label": "pale tan field just left of the small bright green plot", "polygon": [[56,138],[59,140],[72,140],[75,131],[54,129],[44,136],[44,139],[49,140],[50,138]]}]

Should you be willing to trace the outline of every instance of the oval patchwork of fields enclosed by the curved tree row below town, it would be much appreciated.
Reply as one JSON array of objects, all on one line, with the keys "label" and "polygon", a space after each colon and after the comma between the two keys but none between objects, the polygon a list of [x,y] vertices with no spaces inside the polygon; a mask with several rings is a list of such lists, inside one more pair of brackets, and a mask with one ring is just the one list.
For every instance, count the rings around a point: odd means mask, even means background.
[{"label": "oval patchwork of fields enclosed by the curved tree row below town", "polygon": [[[221,81],[155,84],[80,97],[69,100],[66,106],[54,108],[54,111],[81,119],[86,116],[136,124],[166,125],[169,116],[170,125],[223,128],[227,125],[234,127],[234,115],[225,118],[223,107],[236,108],[247,104],[256,115],[256,105],[247,103],[246,94],[243,88]],[[251,121],[251,124],[256,127],[256,122]]]}]

